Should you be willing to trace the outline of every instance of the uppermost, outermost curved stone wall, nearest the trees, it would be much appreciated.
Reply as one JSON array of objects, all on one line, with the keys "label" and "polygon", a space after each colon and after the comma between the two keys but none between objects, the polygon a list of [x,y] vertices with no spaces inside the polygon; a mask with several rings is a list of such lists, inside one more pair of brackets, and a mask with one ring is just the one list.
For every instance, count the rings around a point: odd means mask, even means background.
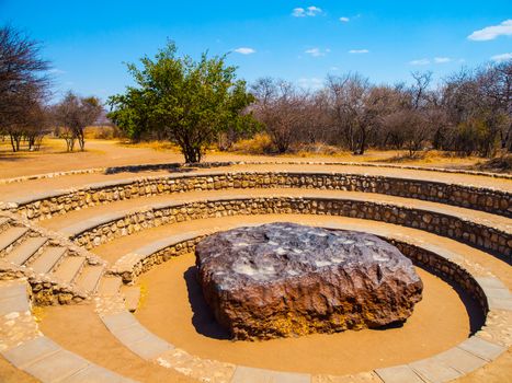
[{"label": "uppermost, outermost curved stone wall, nearest the trees", "polygon": [[20,204],[12,210],[42,220],[112,201],[194,190],[306,188],[378,193],[424,199],[512,217],[512,194],[428,181],[343,173],[227,173],[146,177],[102,184]]}]

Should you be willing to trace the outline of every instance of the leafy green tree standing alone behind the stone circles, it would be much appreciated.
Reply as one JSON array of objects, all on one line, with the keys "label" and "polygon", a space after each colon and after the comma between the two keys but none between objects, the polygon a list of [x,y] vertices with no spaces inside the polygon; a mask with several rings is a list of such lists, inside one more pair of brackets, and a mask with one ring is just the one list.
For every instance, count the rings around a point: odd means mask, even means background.
[{"label": "leafy green tree standing alone behind the stone circles", "polygon": [[151,132],[177,143],[185,162],[200,162],[219,134],[257,127],[243,113],[253,96],[225,59],[206,53],[198,61],[178,57],[169,42],[153,59],[140,59],[141,68],[127,66],[136,85],[109,98],[109,118],[134,140]]}]

